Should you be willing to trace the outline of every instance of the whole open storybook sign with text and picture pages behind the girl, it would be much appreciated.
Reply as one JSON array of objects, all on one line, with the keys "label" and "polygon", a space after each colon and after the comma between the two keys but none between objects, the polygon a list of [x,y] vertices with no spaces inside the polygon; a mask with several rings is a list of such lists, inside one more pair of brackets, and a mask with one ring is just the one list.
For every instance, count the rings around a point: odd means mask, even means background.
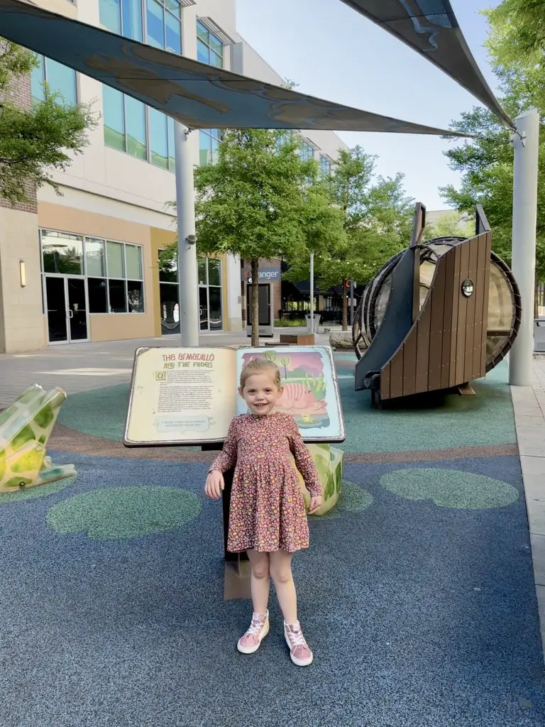
[{"label": "whole open storybook sign with text and picture pages behind the girl", "polygon": [[291,414],[307,442],[346,437],[331,348],[139,348],[134,356],[123,443],[128,447],[221,443],[237,414],[241,369],[251,358],[280,370],[278,411]]}]

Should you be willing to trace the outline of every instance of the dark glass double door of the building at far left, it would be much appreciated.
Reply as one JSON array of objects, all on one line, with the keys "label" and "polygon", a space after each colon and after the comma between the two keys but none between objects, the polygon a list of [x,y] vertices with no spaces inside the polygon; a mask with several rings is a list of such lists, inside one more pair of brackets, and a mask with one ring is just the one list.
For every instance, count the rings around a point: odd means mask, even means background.
[{"label": "dark glass double door of the building at far left", "polygon": [[46,276],[49,343],[88,340],[84,278]]}]

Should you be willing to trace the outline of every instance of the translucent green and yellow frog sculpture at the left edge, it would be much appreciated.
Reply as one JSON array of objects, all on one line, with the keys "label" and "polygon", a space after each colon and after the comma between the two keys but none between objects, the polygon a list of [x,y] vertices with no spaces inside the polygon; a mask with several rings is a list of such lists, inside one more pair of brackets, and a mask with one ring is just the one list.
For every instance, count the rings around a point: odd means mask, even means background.
[{"label": "translucent green and yellow frog sculpture at the left edge", "polygon": [[0,494],[45,485],[76,475],[74,465],[53,465],[46,457],[66,393],[34,384],[0,414]]}]

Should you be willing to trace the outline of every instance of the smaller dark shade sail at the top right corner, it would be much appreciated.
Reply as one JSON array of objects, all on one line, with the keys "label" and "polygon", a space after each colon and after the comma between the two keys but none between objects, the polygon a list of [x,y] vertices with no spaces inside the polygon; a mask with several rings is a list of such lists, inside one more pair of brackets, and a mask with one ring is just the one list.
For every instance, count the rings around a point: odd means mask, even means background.
[{"label": "smaller dark shade sail at the top right corner", "polygon": [[448,73],[514,129],[467,46],[449,0],[342,0]]}]

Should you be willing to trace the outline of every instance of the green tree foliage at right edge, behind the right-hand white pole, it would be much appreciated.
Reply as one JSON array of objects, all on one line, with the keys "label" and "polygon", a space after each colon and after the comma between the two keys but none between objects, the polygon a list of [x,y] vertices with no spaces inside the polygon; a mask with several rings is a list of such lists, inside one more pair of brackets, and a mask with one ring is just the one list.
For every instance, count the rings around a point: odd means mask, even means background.
[{"label": "green tree foliage at right edge, behind the right-hand white pole", "polygon": [[[490,25],[487,47],[512,118],[530,106],[545,114],[545,4],[543,0],[503,0],[485,11]],[[511,262],[513,150],[509,131],[491,111],[473,108],[453,121],[456,131],[479,134],[449,149],[451,169],[461,172],[461,185],[441,188],[448,204],[474,214],[483,205],[493,231],[493,249]],[[539,152],[536,273],[545,279],[545,128],[541,124]]]}]

